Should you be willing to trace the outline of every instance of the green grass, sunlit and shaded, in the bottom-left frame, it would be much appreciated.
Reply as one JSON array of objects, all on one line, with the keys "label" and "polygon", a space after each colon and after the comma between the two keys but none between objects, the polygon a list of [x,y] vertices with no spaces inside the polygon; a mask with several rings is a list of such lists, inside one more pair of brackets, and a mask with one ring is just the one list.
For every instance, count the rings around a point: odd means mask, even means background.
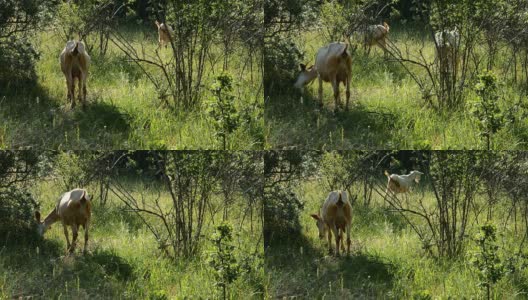
[{"label": "green grass, sunlit and shaded, in the bottom-left frame", "polygon": [[[158,195],[159,187],[145,190],[132,179],[127,180],[126,186],[136,196],[139,189],[147,199]],[[59,190],[59,185],[51,179],[33,188],[34,195],[39,195],[43,214],[51,210]],[[66,255],[66,242],[59,223],[54,224],[43,239],[25,236],[0,241],[0,299],[19,296],[43,299],[218,297],[207,262],[212,251],[212,244],[207,240],[213,228],[211,218],[207,218],[199,254],[171,260],[158,249],[153,235],[140,219],[126,212],[117,198],[110,194],[107,206],[102,208],[97,201],[98,195],[92,196],[94,209],[87,255],[81,254],[82,231],[76,253]],[[169,201],[168,192],[163,189],[161,197]],[[262,243],[257,242],[262,235],[258,221],[253,220],[253,230],[248,218],[241,222],[243,203],[243,199],[237,200],[230,211],[237,257],[253,253],[258,247],[262,249]],[[215,218],[215,223],[219,224],[221,220]],[[258,253],[262,255],[261,250]],[[243,274],[232,284],[232,299],[263,297],[261,260],[257,259],[255,264],[257,273]]]}]

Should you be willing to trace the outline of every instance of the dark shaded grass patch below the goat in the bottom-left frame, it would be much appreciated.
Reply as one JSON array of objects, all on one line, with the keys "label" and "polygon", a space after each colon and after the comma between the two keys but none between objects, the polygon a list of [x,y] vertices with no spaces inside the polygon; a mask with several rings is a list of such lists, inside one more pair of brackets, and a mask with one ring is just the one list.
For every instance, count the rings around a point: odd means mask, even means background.
[{"label": "dark shaded grass patch below the goat in the bottom-left frame", "polygon": [[[109,250],[82,255],[66,254],[64,244],[38,239],[9,242],[0,247],[0,270],[8,274],[12,297],[90,298],[117,297],[126,282],[135,279],[134,268]],[[0,272],[2,274],[3,272]]]}]

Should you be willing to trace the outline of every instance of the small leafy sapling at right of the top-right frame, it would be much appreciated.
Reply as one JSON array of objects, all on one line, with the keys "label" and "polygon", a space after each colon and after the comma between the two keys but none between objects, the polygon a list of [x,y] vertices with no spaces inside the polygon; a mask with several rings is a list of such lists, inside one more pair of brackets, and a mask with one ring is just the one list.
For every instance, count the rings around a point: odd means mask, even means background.
[{"label": "small leafy sapling at right of the top-right frame", "polygon": [[477,118],[480,136],[486,141],[486,149],[491,149],[493,135],[504,126],[504,115],[499,107],[497,77],[491,71],[478,75],[475,91],[479,101],[475,102],[473,115]]}]

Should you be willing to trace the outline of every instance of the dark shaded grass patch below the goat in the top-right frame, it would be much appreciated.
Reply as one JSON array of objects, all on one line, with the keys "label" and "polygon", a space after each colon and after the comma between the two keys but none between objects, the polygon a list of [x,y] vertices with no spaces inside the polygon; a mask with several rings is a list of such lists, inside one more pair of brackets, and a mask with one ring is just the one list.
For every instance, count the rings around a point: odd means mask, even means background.
[{"label": "dark shaded grass patch below the goat in the top-right frame", "polygon": [[291,90],[270,95],[266,120],[272,124],[273,148],[368,149],[387,146],[394,140],[392,132],[399,118],[391,112],[369,111],[351,100],[348,111],[340,106],[334,114],[333,100],[324,101],[321,107],[313,95]]}]

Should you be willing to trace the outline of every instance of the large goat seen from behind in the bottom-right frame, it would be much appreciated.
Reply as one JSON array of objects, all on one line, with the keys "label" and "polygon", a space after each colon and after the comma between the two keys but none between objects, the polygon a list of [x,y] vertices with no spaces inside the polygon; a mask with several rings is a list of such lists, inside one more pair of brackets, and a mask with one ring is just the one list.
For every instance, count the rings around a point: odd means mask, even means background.
[{"label": "large goat seen from behind in the bottom-right frame", "polygon": [[319,238],[324,239],[328,235],[328,249],[332,253],[332,232],[336,239],[336,255],[339,256],[339,243],[345,251],[343,232],[347,234],[347,254],[350,254],[350,226],[352,222],[352,206],[348,201],[346,191],[333,191],[328,194],[321,209],[321,215],[312,214],[317,222]]}]

